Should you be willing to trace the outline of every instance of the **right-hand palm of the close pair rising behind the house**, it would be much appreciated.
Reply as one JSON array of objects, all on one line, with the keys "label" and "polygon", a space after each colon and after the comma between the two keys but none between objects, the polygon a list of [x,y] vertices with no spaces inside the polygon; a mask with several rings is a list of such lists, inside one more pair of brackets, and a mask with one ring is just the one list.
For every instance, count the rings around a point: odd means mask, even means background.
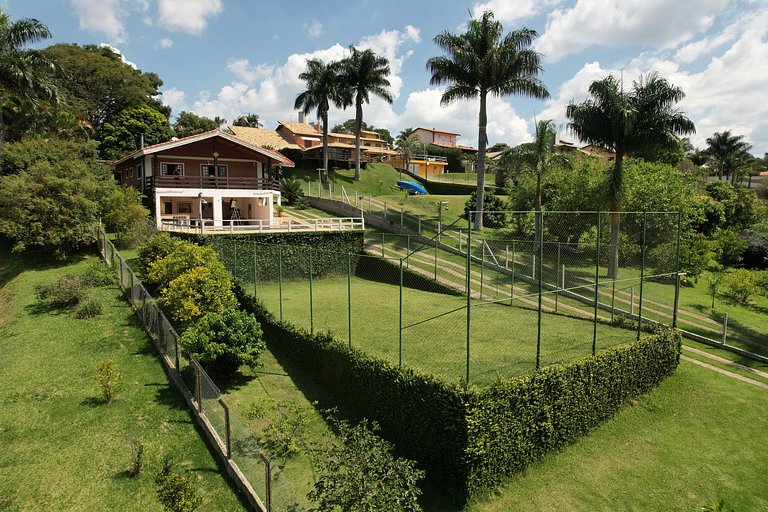
[{"label": "right-hand palm of the close pair rising behind the house", "polygon": [[372,50],[360,51],[350,46],[352,55],[344,59],[342,81],[355,102],[355,180],[360,181],[360,130],[363,122],[363,103],[370,103],[370,96],[378,96],[392,103],[389,93],[389,61]]}]

